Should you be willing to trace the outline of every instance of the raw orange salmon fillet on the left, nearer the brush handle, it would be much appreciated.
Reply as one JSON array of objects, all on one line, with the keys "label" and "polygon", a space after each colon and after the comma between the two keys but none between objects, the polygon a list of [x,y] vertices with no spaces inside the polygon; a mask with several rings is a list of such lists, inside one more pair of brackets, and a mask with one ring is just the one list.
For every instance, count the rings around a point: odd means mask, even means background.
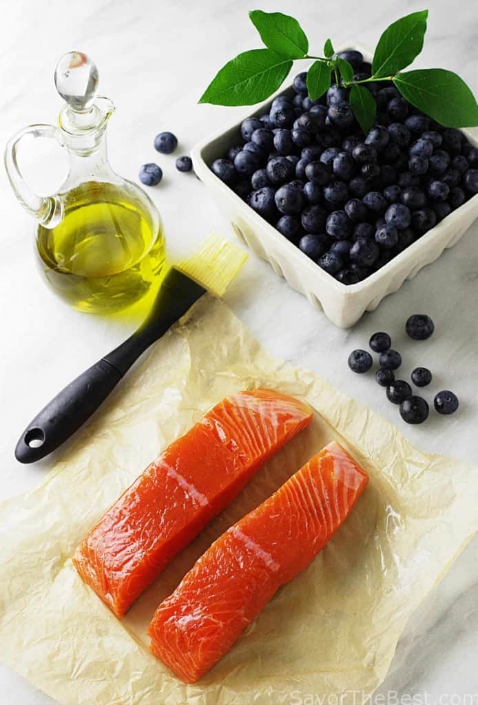
[{"label": "raw orange salmon fillet on the left, nearer the brush handle", "polygon": [[78,546],[81,577],[121,617],[176,554],[312,419],[268,389],[226,397],[127,489]]}]

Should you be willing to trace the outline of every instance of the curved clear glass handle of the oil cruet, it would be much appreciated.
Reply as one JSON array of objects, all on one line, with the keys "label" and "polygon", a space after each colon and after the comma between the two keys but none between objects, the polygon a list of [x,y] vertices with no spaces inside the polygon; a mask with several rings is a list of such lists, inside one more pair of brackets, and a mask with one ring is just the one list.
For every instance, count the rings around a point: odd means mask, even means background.
[{"label": "curved clear glass handle of the oil cruet", "polygon": [[6,173],[18,201],[44,228],[55,228],[63,220],[63,202],[57,196],[39,196],[33,192],[18,167],[18,145],[26,137],[54,137],[63,147],[61,133],[54,125],[30,125],[13,135],[5,148]]}]

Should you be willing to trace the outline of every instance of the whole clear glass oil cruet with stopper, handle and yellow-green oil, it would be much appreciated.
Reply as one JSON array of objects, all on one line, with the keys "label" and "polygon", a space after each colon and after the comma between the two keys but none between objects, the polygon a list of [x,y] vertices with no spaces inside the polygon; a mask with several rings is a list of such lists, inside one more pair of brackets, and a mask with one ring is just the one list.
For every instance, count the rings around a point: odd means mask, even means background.
[{"label": "whole clear glass oil cruet with stopper, handle and yellow-green oil", "polygon": [[[14,135],[6,171],[18,201],[35,218],[37,262],[54,291],[82,311],[115,312],[159,281],[161,218],[145,192],[109,165],[106,125],[114,105],[97,97],[94,63],[80,51],[65,54],[55,85],[66,101],[58,126],[30,125]],[[20,142],[36,137],[54,137],[68,152],[68,176],[47,197],[32,192],[18,167]]]}]

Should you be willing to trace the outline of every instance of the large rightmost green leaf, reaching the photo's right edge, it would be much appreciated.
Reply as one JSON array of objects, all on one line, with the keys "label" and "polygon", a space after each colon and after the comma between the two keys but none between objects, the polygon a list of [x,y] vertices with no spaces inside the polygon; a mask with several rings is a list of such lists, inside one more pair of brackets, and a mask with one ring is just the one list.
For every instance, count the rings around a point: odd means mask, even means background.
[{"label": "large rightmost green leaf, reaching the photo's right edge", "polygon": [[444,68],[398,73],[393,79],[400,93],[415,108],[447,128],[478,125],[478,105],[460,76]]}]

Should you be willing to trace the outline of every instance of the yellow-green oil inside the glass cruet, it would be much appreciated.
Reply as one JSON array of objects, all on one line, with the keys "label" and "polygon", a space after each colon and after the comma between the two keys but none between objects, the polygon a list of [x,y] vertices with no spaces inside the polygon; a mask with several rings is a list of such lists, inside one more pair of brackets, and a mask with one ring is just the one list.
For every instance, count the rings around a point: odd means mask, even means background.
[{"label": "yellow-green oil inside the glass cruet", "polygon": [[161,221],[133,192],[91,181],[66,192],[63,201],[61,223],[37,229],[39,265],[63,299],[80,311],[112,313],[159,283]]}]

